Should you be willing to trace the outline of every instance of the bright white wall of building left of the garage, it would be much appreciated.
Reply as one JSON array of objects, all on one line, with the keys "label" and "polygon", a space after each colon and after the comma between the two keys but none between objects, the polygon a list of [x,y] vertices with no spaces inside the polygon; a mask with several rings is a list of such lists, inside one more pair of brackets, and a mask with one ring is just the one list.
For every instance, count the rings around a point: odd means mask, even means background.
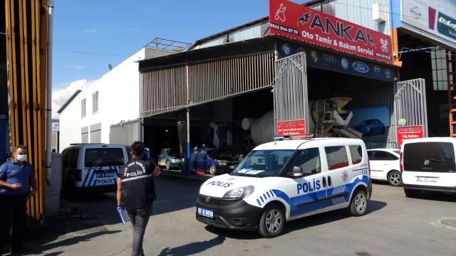
[{"label": "bright white wall of building left of the garage", "polygon": [[[145,59],[145,56],[152,58],[167,54],[167,51],[142,48],[86,87],[78,95],[78,99],[75,98],[61,112],[61,149],[69,143],[81,142],[81,127],[89,127],[90,138],[90,125],[101,123],[101,142],[109,143],[110,125],[140,117],[138,60]],[[98,92],[98,112],[92,113],[92,95],[95,92]],[[86,117],[81,119],[83,99],[86,99]],[[77,109],[76,114],[73,108]],[[69,115],[73,117],[68,118]],[[78,137],[77,142],[72,139],[74,137]]]}]

